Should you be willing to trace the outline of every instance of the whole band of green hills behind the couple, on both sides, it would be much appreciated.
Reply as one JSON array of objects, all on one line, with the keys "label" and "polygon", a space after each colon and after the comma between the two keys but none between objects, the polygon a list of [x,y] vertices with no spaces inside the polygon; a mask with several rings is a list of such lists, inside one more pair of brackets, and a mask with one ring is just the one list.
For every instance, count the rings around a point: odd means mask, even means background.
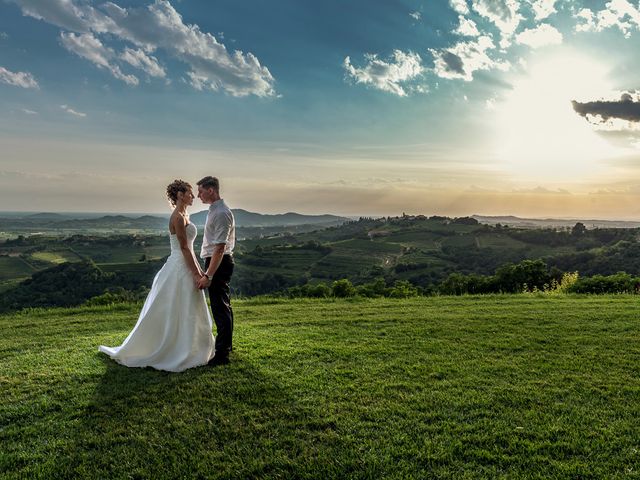
[{"label": "whole band of green hills behind the couple, on both sides", "polygon": [[[388,285],[409,281],[433,292],[453,273],[491,275],[505,263],[527,259],[542,259],[556,277],[575,271],[581,276],[640,275],[638,229],[525,229],[482,225],[471,218],[390,217],[287,232],[238,241],[232,281],[236,294],[279,292],[342,278],[355,284],[378,278]],[[196,252],[200,241],[201,236]],[[166,234],[21,237],[0,243],[0,289],[34,272],[83,259],[121,274],[118,278],[127,276],[126,288],[148,287],[154,262],[168,253]],[[121,283],[115,286],[124,287]]]}]

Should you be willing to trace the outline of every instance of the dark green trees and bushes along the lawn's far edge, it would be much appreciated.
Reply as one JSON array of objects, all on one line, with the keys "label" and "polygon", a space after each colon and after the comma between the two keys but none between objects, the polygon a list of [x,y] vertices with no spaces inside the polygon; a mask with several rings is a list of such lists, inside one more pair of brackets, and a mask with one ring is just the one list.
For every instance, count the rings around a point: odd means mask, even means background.
[{"label": "dark green trees and bushes along the lawn's far edge", "polygon": [[[148,268],[153,278],[159,265]],[[104,272],[93,262],[64,263],[37,272],[17,287],[3,293],[0,312],[28,307],[67,307],[81,304],[101,305],[144,299],[148,282],[140,283],[140,273]],[[379,277],[354,285],[347,278],[325,282],[282,286],[272,295],[288,298],[409,298],[420,295],[470,295],[490,293],[588,293],[611,294],[640,292],[640,277],[625,272],[613,275],[580,277],[577,272],[562,272],[543,260],[524,260],[499,267],[493,275],[452,273],[444,281],[423,288],[407,280],[392,283]]]}]

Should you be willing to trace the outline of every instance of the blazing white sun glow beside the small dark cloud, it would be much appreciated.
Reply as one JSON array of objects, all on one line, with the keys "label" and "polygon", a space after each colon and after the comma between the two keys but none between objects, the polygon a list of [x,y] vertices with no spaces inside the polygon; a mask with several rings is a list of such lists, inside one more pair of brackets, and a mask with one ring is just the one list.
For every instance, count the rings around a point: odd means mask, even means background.
[{"label": "blazing white sun glow beside the small dark cloud", "polygon": [[619,154],[573,110],[612,91],[609,69],[574,50],[539,52],[495,106],[494,151],[516,179],[565,182],[598,174]]}]

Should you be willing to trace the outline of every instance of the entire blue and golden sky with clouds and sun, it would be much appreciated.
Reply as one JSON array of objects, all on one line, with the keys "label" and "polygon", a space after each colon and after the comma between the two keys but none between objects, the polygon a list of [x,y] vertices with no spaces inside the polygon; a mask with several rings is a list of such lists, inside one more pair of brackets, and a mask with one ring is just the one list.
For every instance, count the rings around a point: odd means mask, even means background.
[{"label": "entire blue and golden sky with clouds and sun", "polygon": [[638,220],[639,48],[630,0],[0,0],[0,210]]}]

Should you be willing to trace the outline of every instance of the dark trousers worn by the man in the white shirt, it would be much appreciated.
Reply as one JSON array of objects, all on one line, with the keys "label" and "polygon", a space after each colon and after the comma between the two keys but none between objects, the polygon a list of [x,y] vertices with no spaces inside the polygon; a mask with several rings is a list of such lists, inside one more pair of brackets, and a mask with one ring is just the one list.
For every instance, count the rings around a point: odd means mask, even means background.
[{"label": "dark trousers worn by the man in the white shirt", "polygon": [[[211,257],[204,259],[204,268],[209,268]],[[232,347],[233,335],[233,310],[231,308],[231,295],[229,282],[233,275],[233,257],[224,255],[220,266],[211,278],[209,285],[209,300],[211,301],[211,313],[216,322],[216,357],[226,358]]]}]

